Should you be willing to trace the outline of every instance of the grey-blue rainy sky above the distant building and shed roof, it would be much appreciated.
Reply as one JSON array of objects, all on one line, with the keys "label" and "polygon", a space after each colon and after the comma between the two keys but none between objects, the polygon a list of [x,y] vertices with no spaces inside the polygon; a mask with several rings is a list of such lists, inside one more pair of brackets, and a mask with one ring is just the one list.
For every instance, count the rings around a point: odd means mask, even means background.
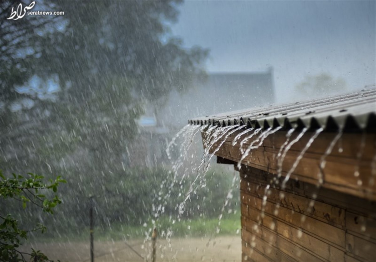
[{"label": "grey-blue rainy sky above the distant building and shed roof", "polygon": [[[185,1],[172,34],[210,49],[209,72],[274,68],[277,101],[306,76],[376,82],[376,1]],[[322,94],[325,95],[325,94]]]}]

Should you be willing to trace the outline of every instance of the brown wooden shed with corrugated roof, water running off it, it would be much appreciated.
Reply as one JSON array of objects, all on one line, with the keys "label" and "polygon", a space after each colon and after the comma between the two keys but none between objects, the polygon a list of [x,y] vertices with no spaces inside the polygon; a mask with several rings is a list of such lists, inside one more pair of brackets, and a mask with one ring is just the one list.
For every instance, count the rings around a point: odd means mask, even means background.
[{"label": "brown wooden shed with corrugated roof, water running off it", "polygon": [[376,260],[376,89],[189,123],[240,173],[243,261]]}]

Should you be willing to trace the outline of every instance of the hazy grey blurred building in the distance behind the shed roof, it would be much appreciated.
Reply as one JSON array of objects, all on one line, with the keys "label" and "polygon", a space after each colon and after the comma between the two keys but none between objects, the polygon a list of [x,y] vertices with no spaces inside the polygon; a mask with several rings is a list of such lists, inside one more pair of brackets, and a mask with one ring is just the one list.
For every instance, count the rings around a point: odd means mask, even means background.
[{"label": "hazy grey blurred building in the distance behind the shed roof", "polygon": [[171,92],[158,117],[166,126],[181,127],[188,118],[269,106],[274,93],[272,67],[264,72],[209,73],[205,82],[195,83],[188,91]]}]

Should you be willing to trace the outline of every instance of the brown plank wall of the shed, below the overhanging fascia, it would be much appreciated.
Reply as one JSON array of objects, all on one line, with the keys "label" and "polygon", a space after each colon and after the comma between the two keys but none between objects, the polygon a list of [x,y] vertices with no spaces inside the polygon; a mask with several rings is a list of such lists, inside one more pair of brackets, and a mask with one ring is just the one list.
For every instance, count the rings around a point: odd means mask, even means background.
[{"label": "brown plank wall of the shed, below the overhanging fascia", "polygon": [[376,261],[375,201],[290,180],[263,206],[275,175],[240,171],[243,261]]}]

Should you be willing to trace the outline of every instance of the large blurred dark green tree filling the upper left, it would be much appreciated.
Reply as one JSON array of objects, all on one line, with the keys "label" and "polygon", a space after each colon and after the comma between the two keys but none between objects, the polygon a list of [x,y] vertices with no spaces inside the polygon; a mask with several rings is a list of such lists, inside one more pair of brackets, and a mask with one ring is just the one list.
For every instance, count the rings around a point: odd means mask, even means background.
[{"label": "large blurred dark green tree filling the upper left", "polygon": [[[4,94],[35,98],[32,108],[3,114],[0,121],[8,122],[0,127],[0,165],[18,173],[30,166],[38,173],[66,173],[70,197],[64,208],[79,211],[77,199],[88,191],[116,192],[103,186],[109,177],[131,180],[124,159],[138,133],[143,104],[162,104],[171,90],[188,89],[205,74],[208,50],[183,48],[182,40],[171,35],[169,25],[177,20],[180,1],[44,3],[51,4],[46,10],[65,15],[48,24],[51,30],[42,27],[23,38],[27,47],[37,50],[24,58],[28,65],[18,66],[27,74],[18,76],[8,69],[17,68],[11,59],[17,48],[0,64],[9,79],[18,77],[9,88],[0,86]],[[43,86],[53,79],[56,98],[45,99],[35,88],[20,91],[20,86],[31,86],[30,77]],[[4,97],[5,104],[13,103]]]}]

